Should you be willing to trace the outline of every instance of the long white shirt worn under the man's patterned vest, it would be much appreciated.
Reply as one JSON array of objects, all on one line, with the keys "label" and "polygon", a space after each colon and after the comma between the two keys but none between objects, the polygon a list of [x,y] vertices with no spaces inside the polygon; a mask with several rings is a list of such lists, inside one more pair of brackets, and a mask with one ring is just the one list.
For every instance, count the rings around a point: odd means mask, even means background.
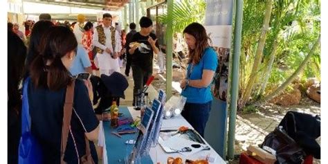
[{"label": "long white shirt worn under the man's patterned vest", "polygon": [[[113,46],[111,44],[111,26],[108,28],[104,27],[102,25],[102,28],[104,28],[104,35],[106,36],[105,45],[100,44],[98,41],[98,31],[95,29],[93,32],[93,40],[92,44],[93,46],[97,46],[98,48],[102,50],[106,50],[106,48],[109,48],[111,52],[113,51]],[[118,34],[118,31],[115,30],[115,52],[119,53],[122,49],[122,44],[120,42],[120,35]],[[116,72],[120,72],[120,65],[118,64],[118,58],[113,59],[111,58],[111,55],[108,54],[106,51],[104,51],[102,54],[97,53],[97,60],[98,60],[98,67],[102,70],[113,70]]]}]

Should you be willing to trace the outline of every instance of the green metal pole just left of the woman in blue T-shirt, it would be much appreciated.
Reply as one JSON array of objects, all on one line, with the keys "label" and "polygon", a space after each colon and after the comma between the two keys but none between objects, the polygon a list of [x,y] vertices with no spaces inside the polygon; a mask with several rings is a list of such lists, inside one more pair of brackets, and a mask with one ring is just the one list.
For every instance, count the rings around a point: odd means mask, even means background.
[{"label": "green metal pole just left of the woman in blue T-shirt", "polygon": [[[169,19],[173,19],[173,3],[174,0],[167,0],[167,17]],[[166,38],[166,95],[168,100],[172,96],[172,21],[169,21],[166,26]]]}]

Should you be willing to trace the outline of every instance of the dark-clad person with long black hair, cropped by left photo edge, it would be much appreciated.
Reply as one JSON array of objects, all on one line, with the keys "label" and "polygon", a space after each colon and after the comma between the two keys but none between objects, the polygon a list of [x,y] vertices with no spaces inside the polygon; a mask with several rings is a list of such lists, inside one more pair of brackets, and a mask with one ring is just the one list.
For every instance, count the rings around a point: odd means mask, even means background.
[{"label": "dark-clad person with long black hair, cropped by left photo edge", "polygon": [[[9,23],[8,23],[9,24]],[[12,30],[8,30],[8,163],[18,163],[21,136],[21,92],[26,46]]]}]

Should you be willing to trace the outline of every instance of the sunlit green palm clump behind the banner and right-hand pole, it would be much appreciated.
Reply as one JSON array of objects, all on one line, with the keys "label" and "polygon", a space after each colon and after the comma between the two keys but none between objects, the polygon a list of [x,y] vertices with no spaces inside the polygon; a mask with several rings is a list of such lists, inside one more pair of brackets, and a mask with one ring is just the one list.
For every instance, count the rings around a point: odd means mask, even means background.
[{"label": "sunlit green palm clump behind the banner and right-hand pole", "polygon": [[[302,54],[310,52],[309,43],[315,42],[320,33],[320,1],[274,1],[269,21],[268,3],[252,0],[244,3],[239,109],[250,100],[256,101],[272,93],[289,79],[304,61],[306,56]],[[266,39],[263,37],[264,20],[270,26]],[[304,66],[298,75],[320,77],[320,51],[316,49],[310,59],[311,64]]]}]

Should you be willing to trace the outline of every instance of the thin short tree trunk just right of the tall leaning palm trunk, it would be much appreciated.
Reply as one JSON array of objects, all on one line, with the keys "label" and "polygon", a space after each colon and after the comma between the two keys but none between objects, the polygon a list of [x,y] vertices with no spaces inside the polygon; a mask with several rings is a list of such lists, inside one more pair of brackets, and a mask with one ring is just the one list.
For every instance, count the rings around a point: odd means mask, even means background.
[{"label": "thin short tree trunk just right of the tall leaning palm trunk", "polygon": [[[278,37],[278,35],[277,35],[277,37]],[[265,88],[266,88],[266,84],[268,84],[268,78],[270,78],[270,75],[271,75],[273,62],[275,61],[275,53],[277,52],[277,46],[278,46],[277,37],[275,39],[275,42],[273,43],[273,49],[270,54],[270,60],[268,60],[268,66],[266,67],[266,71],[264,74],[265,75],[264,82],[262,83],[261,90],[259,91],[259,96],[263,95]]]}]

